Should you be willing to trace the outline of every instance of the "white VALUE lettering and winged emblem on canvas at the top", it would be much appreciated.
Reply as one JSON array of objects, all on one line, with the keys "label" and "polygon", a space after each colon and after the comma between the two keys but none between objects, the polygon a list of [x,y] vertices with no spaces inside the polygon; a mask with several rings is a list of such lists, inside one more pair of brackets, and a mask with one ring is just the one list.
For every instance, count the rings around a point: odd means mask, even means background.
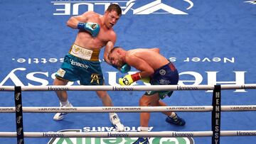
[{"label": "white VALUE lettering and winged emblem on canvas at the top", "polygon": [[[182,3],[188,4],[188,7],[184,7],[183,9],[177,9],[170,4],[164,4],[161,0],[149,1],[148,3],[137,6],[138,0],[129,0],[129,1],[75,1],[75,0],[62,0],[62,1],[51,1],[53,6],[55,6],[55,12],[53,15],[79,15],[84,11],[79,11],[81,8],[87,8],[87,11],[95,11],[96,8],[101,8],[107,10],[107,7],[110,4],[119,4],[122,9],[122,14],[126,14],[129,11],[132,11],[132,14],[136,15],[147,15],[147,14],[181,14],[186,15],[185,11],[191,9],[193,7],[193,2],[191,0],[179,0]],[[141,2],[141,1],[140,1]]]}]

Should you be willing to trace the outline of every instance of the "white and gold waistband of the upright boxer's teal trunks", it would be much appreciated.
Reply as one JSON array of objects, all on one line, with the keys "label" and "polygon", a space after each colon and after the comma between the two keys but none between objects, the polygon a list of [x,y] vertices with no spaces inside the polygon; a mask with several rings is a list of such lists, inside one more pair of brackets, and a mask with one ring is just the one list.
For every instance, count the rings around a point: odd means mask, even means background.
[{"label": "white and gold waistband of the upright boxer's teal trunks", "polygon": [[84,60],[99,61],[100,50],[90,50],[87,48],[82,48],[79,45],[73,44],[70,48],[69,53],[70,55],[73,55]]}]

